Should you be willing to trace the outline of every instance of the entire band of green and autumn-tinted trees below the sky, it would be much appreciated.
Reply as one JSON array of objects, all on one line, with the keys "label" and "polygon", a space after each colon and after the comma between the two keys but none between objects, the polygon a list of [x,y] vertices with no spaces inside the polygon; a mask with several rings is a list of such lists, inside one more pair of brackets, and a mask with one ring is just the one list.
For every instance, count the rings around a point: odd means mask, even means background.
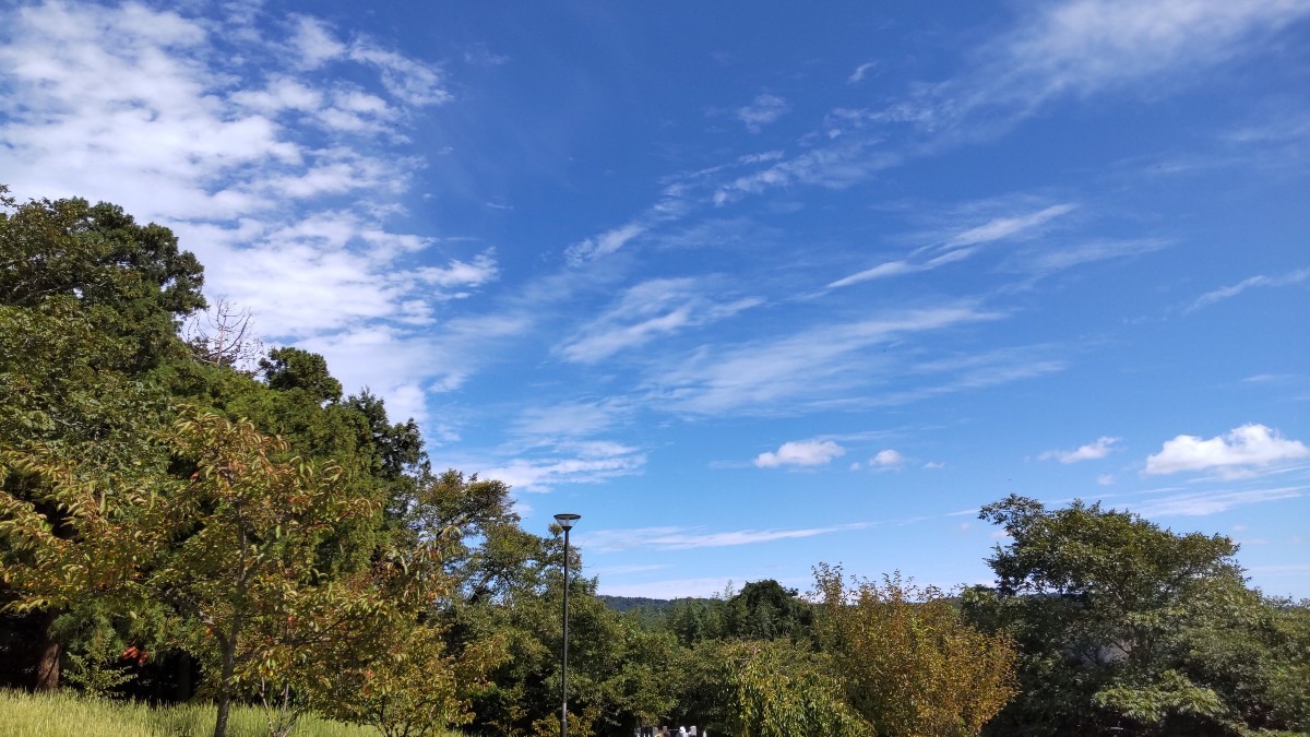
[{"label": "entire band of green and autumn-tinted trees below the sky", "polygon": [[[156,224],[0,186],[0,686],[424,734],[559,730],[563,546]],[[1010,496],[992,586],[815,567],[618,612],[570,581],[570,730],[1310,732],[1310,606],[1222,535]],[[570,565],[582,569],[576,549]]]}]

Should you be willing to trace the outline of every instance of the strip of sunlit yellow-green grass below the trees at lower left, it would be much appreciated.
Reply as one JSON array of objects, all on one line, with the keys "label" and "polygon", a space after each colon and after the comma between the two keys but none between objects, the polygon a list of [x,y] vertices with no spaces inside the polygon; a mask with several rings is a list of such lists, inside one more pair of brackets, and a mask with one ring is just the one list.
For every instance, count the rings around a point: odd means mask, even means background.
[{"label": "strip of sunlit yellow-green grass below the trees at lower left", "polygon": [[[25,694],[0,690],[0,734],[5,737],[190,737],[214,733],[214,704],[152,707],[140,702],[89,699],[73,694]],[[231,737],[269,733],[263,712],[233,707]],[[372,727],[356,727],[304,715],[296,737],[377,737]],[[458,733],[443,733],[458,737]]]}]

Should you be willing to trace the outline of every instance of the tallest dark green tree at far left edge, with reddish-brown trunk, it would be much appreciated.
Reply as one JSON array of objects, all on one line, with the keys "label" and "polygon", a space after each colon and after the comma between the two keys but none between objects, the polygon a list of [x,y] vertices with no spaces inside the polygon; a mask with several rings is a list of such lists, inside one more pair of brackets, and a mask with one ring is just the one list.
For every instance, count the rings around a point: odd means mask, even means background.
[{"label": "tallest dark green tree at far left edge, with reddish-brown trunk", "polygon": [[[0,190],[0,206],[13,207]],[[42,199],[0,212],[0,494],[50,534],[50,544],[29,536],[21,544],[35,547],[20,548],[22,534],[10,527],[20,538],[0,547],[7,568],[37,564],[55,547],[94,544],[79,536],[84,521],[58,501],[68,489],[42,469],[76,459],[84,472],[98,468],[109,479],[153,463],[151,431],[166,416],[153,372],[183,353],[174,325],[204,306],[202,282],[200,265],[168,228],[138,226],[117,206]],[[113,508],[117,492],[103,493]],[[0,599],[28,612],[10,626],[39,620],[37,686],[58,687],[69,643],[54,636],[54,626],[64,618],[62,632],[85,631],[67,622],[76,612],[60,608],[58,597],[26,606],[30,591],[0,590]]]}]

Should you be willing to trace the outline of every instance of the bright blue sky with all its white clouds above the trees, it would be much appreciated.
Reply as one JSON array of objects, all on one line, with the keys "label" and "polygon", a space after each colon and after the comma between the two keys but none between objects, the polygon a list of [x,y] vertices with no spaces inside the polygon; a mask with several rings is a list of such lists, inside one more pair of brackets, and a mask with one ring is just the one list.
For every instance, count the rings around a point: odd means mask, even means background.
[{"label": "bright blue sky with all its white clouds above the trees", "polygon": [[0,181],[174,228],[603,593],[986,581],[1014,492],[1310,597],[1310,0],[0,13]]}]

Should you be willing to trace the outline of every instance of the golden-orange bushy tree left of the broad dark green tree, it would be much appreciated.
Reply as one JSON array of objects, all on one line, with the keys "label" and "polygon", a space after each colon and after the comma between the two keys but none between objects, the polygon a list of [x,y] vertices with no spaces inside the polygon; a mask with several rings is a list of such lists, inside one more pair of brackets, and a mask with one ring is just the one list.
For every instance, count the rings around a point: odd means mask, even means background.
[{"label": "golden-orange bushy tree left of the broad dark green tree", "polygon": [[946,595],[815,569],[819,640],[846,703],[878,734],[976,736],[1015,694],[1010,639],[967,624]]}]

